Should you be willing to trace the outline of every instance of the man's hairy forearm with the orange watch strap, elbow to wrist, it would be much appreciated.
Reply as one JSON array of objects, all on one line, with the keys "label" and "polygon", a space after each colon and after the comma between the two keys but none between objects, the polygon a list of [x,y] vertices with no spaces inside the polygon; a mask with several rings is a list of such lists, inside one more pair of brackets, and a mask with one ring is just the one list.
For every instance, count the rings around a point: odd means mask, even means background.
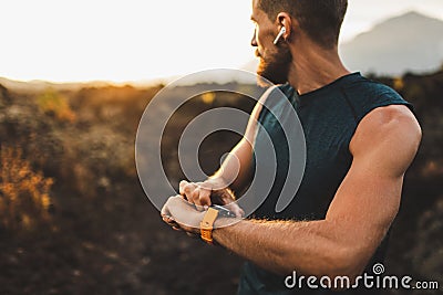
[{"label": "man's hairy forearm with the orange watch strap, elbow to wrist", "polygon": [[224,247],[275,273],[352,276],[356,261],[340,236],[334,236],[339,231],[327,220],[244,220],[217,228],[213,234]]}]

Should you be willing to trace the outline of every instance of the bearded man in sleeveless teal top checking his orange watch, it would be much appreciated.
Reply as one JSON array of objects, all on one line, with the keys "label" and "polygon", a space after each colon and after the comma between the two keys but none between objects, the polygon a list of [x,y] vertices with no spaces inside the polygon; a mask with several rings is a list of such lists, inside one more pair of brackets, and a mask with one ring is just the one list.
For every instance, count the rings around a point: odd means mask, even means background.
[{"label": "bearded man in sleeveless teal top checking his orange watch", "polygon": [[[319,286],[321,277],[358,283],[359,275],[383,262],[421,128],[411,105],[398,93],[343,66],[338,40],[347,6],[347,0],[253,1],[251,45],[260,57],[258,74],[279,86],[260,98],[245,137],[219,171],[204,182],[182,181],[181,196],[171,197],[163,208],[165,222],[202,233],[205,241],[248,261],[238,294],[329,294],[343,286]],[[306,138],[301,185],[278,213],[274,209],[285,185],[280,178],[288,172],[288,145],[279,145],[285,135],[272,114],[285,109],[278,102],[262,107],[275,99],[275,91],[290,101]],[[248,186],[254,152],[262,145],[258,123],[277,143],[276,182],[254,214],[229,223],[210,206],[215,199],[233,202],[231,191]],[[237,217],[243,214],[238,206],[230,209]],[[295,287],[288,280],[293,272],[311,277],[310,284]],[[338,292],[368,291],[362,284],[347,287]]]}]

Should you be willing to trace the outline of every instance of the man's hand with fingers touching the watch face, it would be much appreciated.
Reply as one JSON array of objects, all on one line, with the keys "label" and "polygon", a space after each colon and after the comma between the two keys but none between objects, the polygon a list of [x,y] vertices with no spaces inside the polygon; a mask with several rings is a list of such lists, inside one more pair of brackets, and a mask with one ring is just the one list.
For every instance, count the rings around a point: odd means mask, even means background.
[{"label": "man's hand with fingers touching the watch face", "polygon": [[225,206],[233,211],[236,217],[245,215],[245,212],[235,202],[235,197],[224,183],[215,179],[208,179],[204,182],[187,182],[182,180],[179,183],[179,193],[188,202],[197,206],[197,209],[205,209],[212,204]]}]

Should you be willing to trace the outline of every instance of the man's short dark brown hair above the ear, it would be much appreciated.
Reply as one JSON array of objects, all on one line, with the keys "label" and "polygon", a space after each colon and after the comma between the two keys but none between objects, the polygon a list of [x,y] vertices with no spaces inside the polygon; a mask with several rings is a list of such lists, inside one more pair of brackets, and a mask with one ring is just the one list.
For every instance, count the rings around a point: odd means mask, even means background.
[{"label": "man's short dark brown hair above the ear", "polygon": [[288,12],[313,42],[330,49],[338,43],[348,0],[258,0],[258,8],[271,21]]}]

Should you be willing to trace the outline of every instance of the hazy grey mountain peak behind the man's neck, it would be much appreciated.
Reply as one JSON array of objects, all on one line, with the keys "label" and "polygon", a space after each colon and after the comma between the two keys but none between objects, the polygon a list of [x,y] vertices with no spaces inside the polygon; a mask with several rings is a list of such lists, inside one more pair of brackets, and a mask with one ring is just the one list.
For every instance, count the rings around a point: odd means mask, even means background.
[{"label": "hazy grey mountain peak behind the man's neck", "polygon": [[443,64],[443,21],[418,12],[389,19],[340,48],[351,71],[399,75]]}]

